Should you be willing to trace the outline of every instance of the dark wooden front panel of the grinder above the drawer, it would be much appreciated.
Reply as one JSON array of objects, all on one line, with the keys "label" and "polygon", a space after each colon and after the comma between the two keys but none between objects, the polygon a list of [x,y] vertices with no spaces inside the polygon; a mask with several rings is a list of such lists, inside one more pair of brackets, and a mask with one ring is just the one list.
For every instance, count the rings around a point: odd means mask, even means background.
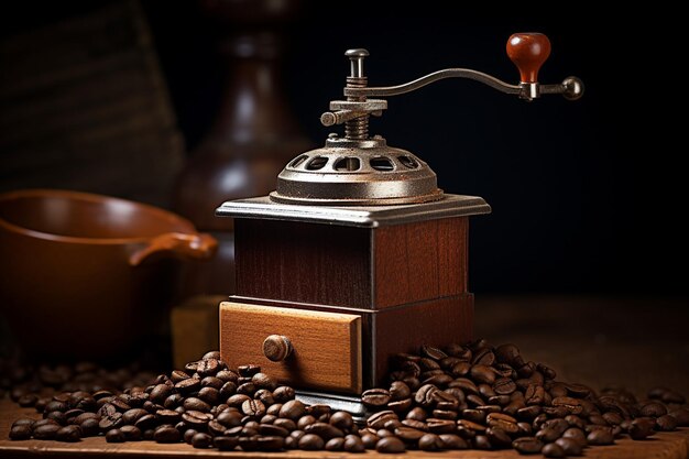
[{"label": "dark wooden front panel of the grinder above the drawer", "polygon": [[370,230],[236,219],[237,295],[371,306]]}]

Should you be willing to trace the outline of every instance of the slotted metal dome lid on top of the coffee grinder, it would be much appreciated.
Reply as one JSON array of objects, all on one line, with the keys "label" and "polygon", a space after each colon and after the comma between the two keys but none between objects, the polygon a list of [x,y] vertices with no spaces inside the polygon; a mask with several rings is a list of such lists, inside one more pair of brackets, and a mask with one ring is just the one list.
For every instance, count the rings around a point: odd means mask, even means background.
[{"label": "slotted metal dome lid on top of the coffee grinder", "polygon": [[368,140],[331,135],[322,149],[292,160],[271,199],[285,204],[375,206],[427,203],[442,197],[437,176],[413,153]]}]

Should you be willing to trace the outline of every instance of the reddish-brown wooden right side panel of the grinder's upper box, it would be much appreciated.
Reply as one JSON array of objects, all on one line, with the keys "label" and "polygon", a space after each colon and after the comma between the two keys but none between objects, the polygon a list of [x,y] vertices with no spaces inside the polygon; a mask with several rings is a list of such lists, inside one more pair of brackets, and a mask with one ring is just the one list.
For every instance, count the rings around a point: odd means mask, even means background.
[{"label": "reddish-brown wooden right side panel of the grinder's upper box", "polygon": [[375,307],[467,292],[468,218],[374,230]]}]

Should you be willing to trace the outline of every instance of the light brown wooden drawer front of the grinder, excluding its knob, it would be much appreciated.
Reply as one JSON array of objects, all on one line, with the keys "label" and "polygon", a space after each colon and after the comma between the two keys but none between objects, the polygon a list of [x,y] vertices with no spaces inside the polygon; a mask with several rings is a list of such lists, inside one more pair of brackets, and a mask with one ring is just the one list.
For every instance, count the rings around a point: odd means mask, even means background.
[{"label": "light brown wooden drawer front of the grinder, excluding its knob", "polygon": [[[282,362],[263,354],[270,335],[289,339],[293,352]],[[261,368],[280,381],[335,392],[361,393],[361,317],[223,302],[220,354],[230,367]]]}]

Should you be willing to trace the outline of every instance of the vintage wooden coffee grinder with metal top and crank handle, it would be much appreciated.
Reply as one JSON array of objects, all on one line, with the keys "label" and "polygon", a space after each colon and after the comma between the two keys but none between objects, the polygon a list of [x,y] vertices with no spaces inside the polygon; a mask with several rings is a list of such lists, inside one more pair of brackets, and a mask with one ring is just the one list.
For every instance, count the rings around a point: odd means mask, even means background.
[{"label": "vintage wooden coffee grinder with metal top and crank handle", "polygon": [[324,125],[344,124],[321,149],[292,160],[269,196],[222,204],[234,218],[237,293],[220,305],[220,352],[230,365],[260,364],[304,402],[362,416],[358,395],[381,383],[389,359],[422,343],[472,338],[467,285],[469,217],[489,214],[480,197],[442,193],[413,153],[369,135],[369,118],[398,96],[444,78],[469,78],[522,100],[581,97],[578,78],[543,85],[550,53],[538,33],[514,34],[507,55],[521,83],[466,68],[398,86],[369,87],[365,50],[349,50],[344,100]]}]

